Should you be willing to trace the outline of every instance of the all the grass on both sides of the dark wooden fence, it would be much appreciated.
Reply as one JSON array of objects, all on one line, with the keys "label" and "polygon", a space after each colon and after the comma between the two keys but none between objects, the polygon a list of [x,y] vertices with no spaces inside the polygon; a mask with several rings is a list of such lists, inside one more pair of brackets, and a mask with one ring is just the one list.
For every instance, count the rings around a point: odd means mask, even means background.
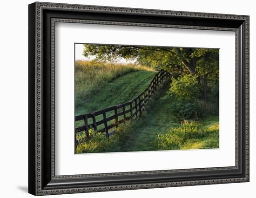
[{"label": "all the grass on both sides of the dark wooden fence", "polygon": [[[98,111],[135,98],[148,86],[155,73],[153,69],[133,64],[94,65],[77,61],[75,114]],[[120,125],[109,139],[104,133],[90,130],[94,138],[80,142],[76,153],[218,148],[218,116],[181,122],[172,112],[171,101],[161,100],[168,85],[168,81],[162,85],[141,119]],[[79,125],[83,122],[76,122],[76,126]],[[83,136],[84,133],[77,134],[77,139]]]}]

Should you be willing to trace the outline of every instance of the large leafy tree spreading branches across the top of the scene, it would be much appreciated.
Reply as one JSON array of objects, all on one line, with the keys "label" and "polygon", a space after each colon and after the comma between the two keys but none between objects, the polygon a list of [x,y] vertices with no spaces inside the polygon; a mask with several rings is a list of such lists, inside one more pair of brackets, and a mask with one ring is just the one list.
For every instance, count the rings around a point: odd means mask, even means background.
[{"label": "large leafy tree spreading branches across the top of the scene", "polygon": [[84,45],[85,57],[95,56],[96,61],[136,60],[138,64],[164,68],[178,75],[189,73],[202,85],[207,101],[208,79],[218,81],[218,49],[165,46]]}]

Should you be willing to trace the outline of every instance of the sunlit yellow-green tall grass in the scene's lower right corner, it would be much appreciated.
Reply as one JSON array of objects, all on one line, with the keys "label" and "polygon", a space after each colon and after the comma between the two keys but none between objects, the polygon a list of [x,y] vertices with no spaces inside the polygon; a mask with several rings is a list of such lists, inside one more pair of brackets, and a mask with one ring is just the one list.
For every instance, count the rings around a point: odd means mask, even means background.
[{"label": "sunlit yellow-green tall grass in the scene's lower right corner", "polygon": [[159,134],[154,144],[158,150],[218,148],[218,122],[208,127],[199,122],[184,120],[167,133]]}]

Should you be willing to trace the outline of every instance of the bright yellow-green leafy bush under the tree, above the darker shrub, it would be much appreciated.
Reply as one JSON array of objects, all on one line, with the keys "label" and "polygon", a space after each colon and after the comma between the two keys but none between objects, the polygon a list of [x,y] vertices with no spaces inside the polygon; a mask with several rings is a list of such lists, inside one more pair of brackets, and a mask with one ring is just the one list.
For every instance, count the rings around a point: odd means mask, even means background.
[{"label": "bright yellow-green leafy bush under the tree, above the darker shrub", "polygon": [[182,101],[197,99],[200,95],[200,86],[197,77],[191,74],[183,74],[177,79],[172,77],[170,89],[167,94],[169,96],[175,96]]}]

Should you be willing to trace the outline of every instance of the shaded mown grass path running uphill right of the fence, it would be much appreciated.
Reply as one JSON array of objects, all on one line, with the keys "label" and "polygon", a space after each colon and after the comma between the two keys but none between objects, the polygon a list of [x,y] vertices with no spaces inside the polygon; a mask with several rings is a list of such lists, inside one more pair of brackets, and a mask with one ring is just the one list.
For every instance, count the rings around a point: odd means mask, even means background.
[{"label": "shaded mown grass path running uphill right of the fence", "polygon": [[154,151],[152,144],[158,134],[164,134],[169,128],[180,125],[171,113],[168,100],[161,100],[168,89],[166,83],[158,92],[155,101],[147,107],[146,115],[131,124],[132,134],[122,146],[123,151]]}]

